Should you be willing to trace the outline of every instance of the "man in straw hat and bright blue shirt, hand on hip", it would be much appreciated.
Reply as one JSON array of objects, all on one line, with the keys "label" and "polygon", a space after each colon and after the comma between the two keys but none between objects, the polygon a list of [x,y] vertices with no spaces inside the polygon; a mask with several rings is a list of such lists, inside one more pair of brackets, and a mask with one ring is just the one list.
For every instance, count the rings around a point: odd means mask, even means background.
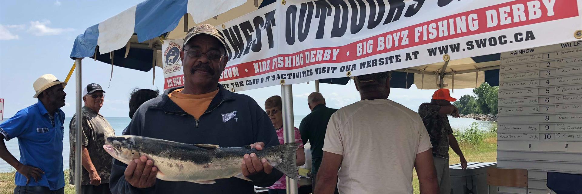
[{"label": "man in straw hat and bright blue shirt, hand on hip", "polygon": [[0,157],[16,168],[14,193],[64,193],[63,121],[65,82],[45,74],[33,83],[38,103],[0,124],[0,138],[18,138],[20,161],[0,141]]}]

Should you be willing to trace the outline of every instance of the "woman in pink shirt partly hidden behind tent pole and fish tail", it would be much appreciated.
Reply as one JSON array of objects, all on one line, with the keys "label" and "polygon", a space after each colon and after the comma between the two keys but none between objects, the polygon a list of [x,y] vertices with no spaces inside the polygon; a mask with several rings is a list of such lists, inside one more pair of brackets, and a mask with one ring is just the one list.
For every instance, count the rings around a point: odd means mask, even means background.
[{"label": "woman in pink shirt partly hidden behind tent pole and fish tail", "polygon": [[[271,122],[275,126],[277,131],[277,136],[279,137],[279,143],[283,144],[283,112],[281,104],[281,96],[272,96],[267,98],[265,101],[265,110],[267,115],[271,119]],[[303,141],[301,141],[301,134],[299,129],[295,128],[295,142],[301,143],[299,149],[297,149],[297,166],[305,164],[305,152],[303,151]],[[269,186],[269,194],[283,194],[286,193],[287,182],[285,176],[281,177],[279,181],[275,182],[272,186]],[[299,187],[299,183],[297,183]]]}]

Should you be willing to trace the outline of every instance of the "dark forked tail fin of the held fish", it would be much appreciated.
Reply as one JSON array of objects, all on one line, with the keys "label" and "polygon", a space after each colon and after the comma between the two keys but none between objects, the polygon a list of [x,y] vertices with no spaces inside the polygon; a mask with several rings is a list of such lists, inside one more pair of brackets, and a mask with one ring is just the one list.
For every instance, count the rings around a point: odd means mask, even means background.
[{"label": "dark forked tail fin of the held fish", "polygon": [[281,156],[281,163],[273,165],[273,167],[276,170],[283,172],[287,177],[295,180],[299,180],[297,163],[295,163],[295,154],[300,144],[301,143],[285,143],[279,146],[265,148],[268,152],[279,153],[278,156]]}]

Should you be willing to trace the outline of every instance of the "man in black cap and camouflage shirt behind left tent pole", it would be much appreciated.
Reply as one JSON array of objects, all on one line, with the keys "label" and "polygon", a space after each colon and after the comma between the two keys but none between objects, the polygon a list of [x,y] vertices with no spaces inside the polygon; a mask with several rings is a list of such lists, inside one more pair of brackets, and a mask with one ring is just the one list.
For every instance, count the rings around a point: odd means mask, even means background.
[{"label": "man in black cap and camouflage shirt behind left tent pole", "polygon": [[[105,139],[115,136],[115,130],[103,115],[99,114],[105,91],[100,84],[90,83],[83,89],[85,105],[81,109],[81,193],[109,194],[109,175],[111,175],[111,160],[113,157],[103,149]],[[70,163],[69,184],[74,185],[75,175],[75,142],[77,142],[76,117],[73,115],[69,124]]]}]

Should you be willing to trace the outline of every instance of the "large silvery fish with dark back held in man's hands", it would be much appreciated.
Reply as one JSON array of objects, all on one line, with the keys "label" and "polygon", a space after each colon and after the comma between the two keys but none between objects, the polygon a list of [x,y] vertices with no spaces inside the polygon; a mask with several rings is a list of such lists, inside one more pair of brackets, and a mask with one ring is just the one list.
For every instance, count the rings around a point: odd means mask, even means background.
[{"label": "large silvery fish with dark back held in man's hands", "polygon": [[113,158],[129,164],[146,156],[158,168],[156,178],[164,181],[188,181],[197,184],[214,184],[215,179],[237,177],[247,181],[240,166],[244,154],[255,153],[267,159],[277,170],[293,179],[299,179],[295,152],[299,143],[285,143],[263,150],[245,147],[222,148],[214,144],[186,144],[142,136],[107,137],[103,148]]}]

